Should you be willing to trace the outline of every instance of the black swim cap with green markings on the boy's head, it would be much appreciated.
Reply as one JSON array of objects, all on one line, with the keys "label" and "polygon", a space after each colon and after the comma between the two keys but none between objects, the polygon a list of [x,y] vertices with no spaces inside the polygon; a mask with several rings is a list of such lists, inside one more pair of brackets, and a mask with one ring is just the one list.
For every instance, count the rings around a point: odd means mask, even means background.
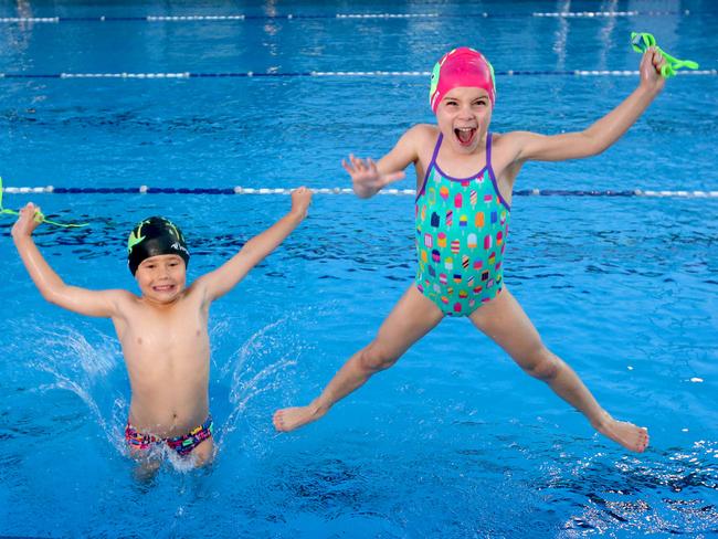
[{"label": "black swim cap with green markings on the boy's head", "polygon": [[184,266],[189,264],[190,252],[182,231],[165,218],[155,216],[137,223],[127,240],[127,266],[133,275],[144,260],[160,254],[176,254],[184,261]]}]

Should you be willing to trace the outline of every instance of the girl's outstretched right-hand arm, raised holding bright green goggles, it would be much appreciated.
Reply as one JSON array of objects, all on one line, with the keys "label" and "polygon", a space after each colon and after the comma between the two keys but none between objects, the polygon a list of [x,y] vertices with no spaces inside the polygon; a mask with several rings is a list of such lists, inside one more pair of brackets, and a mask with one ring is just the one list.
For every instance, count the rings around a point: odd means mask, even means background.
[{"label": "girl's outstretched right-hand arm, raised holding bright green goggles", "polygon": [[654,47],[641,60],[641,83],[623,103],[580,133],[545,136],[536,133],[507,134],[506,140],[515,152],[515,161],[562,161],[601,154],[638,119],[663,89],[665,84],[661,67],[665,60]]}]

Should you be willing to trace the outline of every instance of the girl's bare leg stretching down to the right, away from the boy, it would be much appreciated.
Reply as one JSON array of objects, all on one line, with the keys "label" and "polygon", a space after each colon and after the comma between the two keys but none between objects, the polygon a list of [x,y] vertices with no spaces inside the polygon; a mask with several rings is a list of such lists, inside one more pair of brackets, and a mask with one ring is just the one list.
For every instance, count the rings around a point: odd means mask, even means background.
[{"label": "girl's bare leg stretching down to the right, away from the boy", "polygon": [[539,337],[516,298],[506,289],[471,315],[471,320],[530,376],[545,381],[561,399],[579,410],[601,434],[635,452],[648,445],[646,429],[614,420],[581,379]]}]

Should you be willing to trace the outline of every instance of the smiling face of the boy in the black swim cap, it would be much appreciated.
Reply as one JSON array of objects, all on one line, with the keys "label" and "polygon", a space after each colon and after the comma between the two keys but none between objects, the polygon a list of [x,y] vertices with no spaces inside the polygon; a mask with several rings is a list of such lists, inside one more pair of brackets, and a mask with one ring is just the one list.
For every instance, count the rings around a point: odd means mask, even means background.
[{"label": "smiling face of the boy in the black swim cap", "polygon": [[142,297],[160,304],[172,303],[184,289],[187,267],[176,254],[160,254],[145,258],[137,267],[135,278]]}]

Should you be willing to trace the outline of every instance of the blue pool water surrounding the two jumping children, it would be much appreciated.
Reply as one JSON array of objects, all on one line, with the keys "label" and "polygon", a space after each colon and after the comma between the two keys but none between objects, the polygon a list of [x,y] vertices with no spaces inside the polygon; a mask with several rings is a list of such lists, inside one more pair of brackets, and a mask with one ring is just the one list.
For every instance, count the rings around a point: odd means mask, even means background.
[{"label": "blue pool water surrounding the two jumping children", "polygon": [[[534,15],[561,11],[625,14]],[[0,18],[23,19],[0,22],[0,176],[13,187],[346,188],[341,158],[378,158],[432,120],[427,80],[312,73],[426,72],[458,44],[500,73],[529,72],[497,77],[497,131],[582,129],[620,103],[635,75],[561,73],[636,70],[632,30],[718,66],[707,0],[2,2]],[[243,75],[57,76],[123,72]],[[671,80],[605,154],[529,163],[516,188],[718,190],[717,92],[715,75]],[[397,187],[413,188],[409,177]],[[124,247],[137,220],[162,213],[183,228],[194,278],[289,207],[282,194],[6,193],[3,203],[28,200],[91,223],[38,231],[60,275],[129,289]],[[212,308],[217,462],[167,464],[149,487],[124,453],[128,382],[110,323],[46,304],[11,223],[0,221],[0,535],[718,533],[718,199],[514,200],[508,286],[601,404],[650,427],[645,454],[594,434],[467,320],[444,321],[323,421],[276,434],[274,410],[314,398],[413,278],[412,197],[317,194],[309,219]]]}]

